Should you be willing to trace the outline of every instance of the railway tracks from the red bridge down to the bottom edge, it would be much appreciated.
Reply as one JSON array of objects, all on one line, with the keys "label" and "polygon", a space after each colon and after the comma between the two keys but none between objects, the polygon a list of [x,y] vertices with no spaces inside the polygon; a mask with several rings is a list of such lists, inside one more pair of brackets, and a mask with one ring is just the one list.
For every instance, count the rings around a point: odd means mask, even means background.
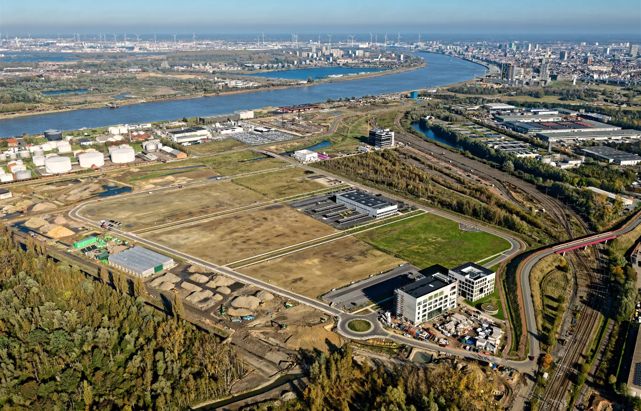
[{"label": "railway tracks from the red bridge down to the bottom edge", "polygon": [[[554,369],[553,375],[547,382],[544,396],[540,398],[542,411],[565,411],[567,409],[567,394],[572,385],[572,376],[579,375],[581,367],[581,357],[587,353],[587,349],[592,342],[592,337],[597,332],[596,328],[601,317],[603,304],[606,302],[608,293],[608,277],[604,275],[605,266],[598,253],[601,245],[592,245],[592,250],[597,261],[596,267],[592,268],[587,255],[581,251],[572,252],[578,262],[578,268],[583,270],[583,282],[587,282],[587,301],[581,309],[579,321],[577,321],[574,334],[569,339],[569,346],[563,356],[558,360],[558,365]],[[587,358],[586,358],[587,360]]]}]

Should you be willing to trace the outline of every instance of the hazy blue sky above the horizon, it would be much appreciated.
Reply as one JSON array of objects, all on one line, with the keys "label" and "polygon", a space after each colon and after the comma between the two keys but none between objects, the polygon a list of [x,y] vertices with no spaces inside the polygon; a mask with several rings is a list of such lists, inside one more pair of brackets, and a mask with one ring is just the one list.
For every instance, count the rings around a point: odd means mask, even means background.
[{"label": "hazy blue sky above the horizon", "polygon": [[[5,0],[4,37],[56,33],[196,35],[421,33],[641,36],[639,0]],[[369,35],[367,35],[369,36]],[[390,35],[388,35],[390,36]],[[633,41],[633,39],[631,39]]]}]

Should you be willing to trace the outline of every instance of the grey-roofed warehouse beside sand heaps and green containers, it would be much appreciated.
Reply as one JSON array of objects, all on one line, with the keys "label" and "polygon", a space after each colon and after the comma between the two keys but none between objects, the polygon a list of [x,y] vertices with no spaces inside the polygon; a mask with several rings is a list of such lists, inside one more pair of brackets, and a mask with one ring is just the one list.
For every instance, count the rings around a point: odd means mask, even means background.
[{"label": "grey-roofed warehouse beside sand heaps and green containers", "polygon": [[149,277],[158,271],[169,270],[176,265],[172,258],[139,245],[112,254],[107,257],[107,261],[111,266],[138,277]]}]

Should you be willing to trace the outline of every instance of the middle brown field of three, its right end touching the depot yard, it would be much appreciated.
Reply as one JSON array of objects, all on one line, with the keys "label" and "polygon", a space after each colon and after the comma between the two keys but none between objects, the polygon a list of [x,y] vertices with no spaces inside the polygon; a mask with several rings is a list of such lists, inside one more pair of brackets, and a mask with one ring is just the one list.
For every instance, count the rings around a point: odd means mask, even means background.
[{"label": "middle brown field of three, its right end touching the depot yard", "polygon": [[215,264],[228,264],[334,232],[329,225],[276,204],[151,232],[145,238]]}]

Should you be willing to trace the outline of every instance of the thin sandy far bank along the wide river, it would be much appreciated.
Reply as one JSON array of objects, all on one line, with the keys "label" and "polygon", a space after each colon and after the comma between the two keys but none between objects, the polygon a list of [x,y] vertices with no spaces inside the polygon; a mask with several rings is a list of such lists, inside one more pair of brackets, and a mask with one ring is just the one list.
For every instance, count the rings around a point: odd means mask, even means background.
[{"label": "thin sandy far bank along the wide river", "polygon": [[[15,118],[15,117],[25,117],[25,116],[32,116],[32,115],[41,115],[41,114],[51,114],[51,113],[63,113],[65,111],[74,111],[74,110],[79,110],[79,109],[109,109],[108,107],[105,106],[106,103],[109,104],[117,104],[117,106],[123,107],[123,106],[131,106],[135,104],[147,104],[150,102],[161,102],[161,101],[172,101],[172,100],[183,100],[183,99],[197,99],[200,97],[217,97],[219,95],[234,95],[234,94],[242,94],[242,93],[253,93],[253,92],[262,92],[265,90],[281,90],[283,88],[303,88],[303,87],[312,87],[312,86],[319,86],[323,85],[326,83],[337,83],[339,81],[351,81],[351,80],[360,80],[360,79],[368,79],[368,78],[373,78],[373,77],[381,77],[381,76],[388,76],[390,74],[399,74],[403,72],[408,72],[412,70],[417,70],[419,68],[426,67],[427,63],[423,63],[421,65],[413,66],[413,67],[403,67],[403,68],[396,68],[393,70],[385,70],[385,71],[380,71],[380,72],[369,72],[369,73],[364,73],[364,74],[358,74],[357,76],[343,76],[343,77],[331,77],[329,79],[319,79],[313,81],[313,83],[308,83],[308,84],[295,84],[295,85],[284,85],[284,86],[274,86],[274,87],[258,87],[258,88],[249,88],[249,89],[244,89],[244,90],[233,90],[230,92],[221,92],[221,93],[201,93],[201,94],[183,94],[183,95],[176,95],[172,97],[162,97],[158,99],[144,99],[138,100],[138,99],[128,99],[128,100],[123,100],[123,101],[117,101],[117,100],[108,100],[108,101],[100,101],[100,102],[94,102],[91,104],[78,104],[78,106],[71,106],[68,108],[60,108],[60,109],[51,109],[51,110],[44,110],[44,111],[21,111],[19,113],[8,113],[8,114],[2,114],[0,115],[0,120],[6,119],[6,118]],[[282,71],[282,70],[281,70]],[[230,74],[231,75],[231,74]],[[246,76],[246,77],[251,77],[251,76]],[[122,92],[122,90],[121,90]],[[124,91],[126,92],[126,91]],[[361,97],[361,96],[359,96]],[[310,101],[312,102],[312,101]],[[117,109],[117,108],[112,108],[112,109]]]}]

